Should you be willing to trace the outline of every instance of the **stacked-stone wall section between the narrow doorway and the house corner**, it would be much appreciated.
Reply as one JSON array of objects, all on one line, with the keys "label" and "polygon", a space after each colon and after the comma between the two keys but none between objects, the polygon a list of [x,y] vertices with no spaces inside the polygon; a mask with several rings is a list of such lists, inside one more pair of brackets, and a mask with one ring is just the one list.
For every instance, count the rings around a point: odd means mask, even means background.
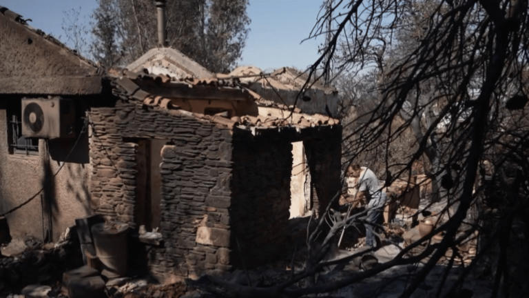
[{"label": "stacked-stone wall section between the narrow doorway and the house corner", "polygon": [[231,135],[209,123],[182,123],[180,130],[186,128],[196,128],[199,137],[184,135],[162,150],[160,226],[166,249],[154,270],[173,268],[174,275],[193,277],[231,268]]}]

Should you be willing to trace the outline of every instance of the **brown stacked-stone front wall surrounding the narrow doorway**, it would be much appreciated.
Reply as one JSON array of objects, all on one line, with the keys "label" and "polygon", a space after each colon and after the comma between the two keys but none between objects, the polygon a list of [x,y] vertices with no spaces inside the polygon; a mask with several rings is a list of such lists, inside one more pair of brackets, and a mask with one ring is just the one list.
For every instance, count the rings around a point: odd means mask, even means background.
[{"label": "brown stacked-stone front wall surrounding the narrow doorway", "polygon": [[[136,226],[138,140],[167,139],[161,151],[160,232],[148,252],[156,277],[228,270],[231,134],[178,112],[118,101],[92,108],[92,208]],[[152,155],[158,152],[151,152]],[[138,210],[136,210],[137,212]]]}]

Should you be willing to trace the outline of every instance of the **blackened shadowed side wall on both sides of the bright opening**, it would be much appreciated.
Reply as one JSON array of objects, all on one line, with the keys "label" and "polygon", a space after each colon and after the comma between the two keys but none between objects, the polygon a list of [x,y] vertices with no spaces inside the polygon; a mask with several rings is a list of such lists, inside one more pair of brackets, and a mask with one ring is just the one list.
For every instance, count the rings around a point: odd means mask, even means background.
[{"label": "blackened shadowed side wall on both sides of the bright opening", "polygon": [[[303,141],[311,176],[315,215],[323,214],[340,191],[340,126],[262,129],[256,135],[234,131],[232,181],[232,243],[240,242],[246,266],[280,257],[288,243],[291,204],[292,143]],[[240,254],[232,252],[240,267]]]}]

